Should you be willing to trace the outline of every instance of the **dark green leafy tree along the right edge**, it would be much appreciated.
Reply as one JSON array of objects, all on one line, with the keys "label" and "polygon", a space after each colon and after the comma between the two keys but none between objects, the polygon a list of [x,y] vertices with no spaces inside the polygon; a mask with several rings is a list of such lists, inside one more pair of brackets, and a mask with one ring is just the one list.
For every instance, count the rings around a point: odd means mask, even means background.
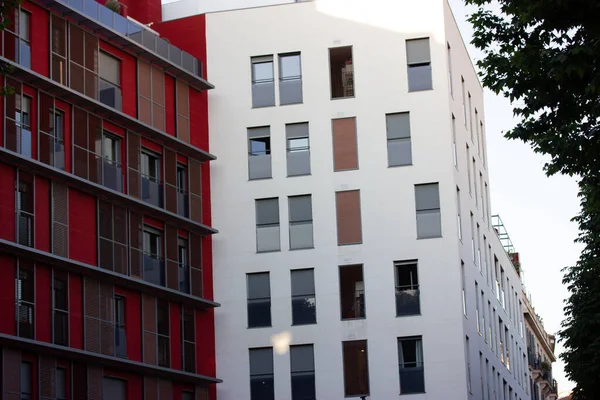
[{"label": "dark green leafy tree along the right edge", "polygon": [[513,104],[506,132],[550,156],[548,175],[579,179],[577,264],[565,268],[570,295],[559,332],[575,400],[600,393],[600,1],[465,0],[484,86]]}]

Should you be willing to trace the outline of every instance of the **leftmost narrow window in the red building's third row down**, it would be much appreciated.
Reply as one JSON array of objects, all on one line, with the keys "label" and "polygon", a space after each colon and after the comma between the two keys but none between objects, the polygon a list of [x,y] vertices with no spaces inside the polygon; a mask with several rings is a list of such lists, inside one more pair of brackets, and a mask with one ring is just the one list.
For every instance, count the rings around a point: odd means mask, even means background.
[{"label": "leftmost narrow window in the red building's third row down", "polygon": [[33,247],[34,179],[21,170],[17,176],[17,239],[19,244]]}]

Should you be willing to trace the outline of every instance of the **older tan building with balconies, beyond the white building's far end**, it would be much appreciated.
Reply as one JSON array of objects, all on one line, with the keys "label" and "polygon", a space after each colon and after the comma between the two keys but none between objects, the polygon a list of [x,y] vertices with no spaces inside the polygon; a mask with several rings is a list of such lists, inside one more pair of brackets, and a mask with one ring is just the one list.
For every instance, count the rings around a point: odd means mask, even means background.
[{"label": "older tan building with balconies, beyond the white building's far end", "polygon": [[523,291],[525,338],[529,360],[531,400],[556,400],[558,386],[552,378],[552,363],[556,361],[556,338],[546,332],[542,318],[535,312],[531,297]]}]

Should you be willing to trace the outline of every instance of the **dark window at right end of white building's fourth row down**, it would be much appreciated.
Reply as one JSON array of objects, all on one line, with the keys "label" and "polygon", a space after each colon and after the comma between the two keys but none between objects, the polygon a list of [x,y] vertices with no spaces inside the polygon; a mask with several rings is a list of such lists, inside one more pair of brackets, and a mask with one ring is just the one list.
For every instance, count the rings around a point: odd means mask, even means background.
[{"label": "dark window at right end of white building's fourth row down", "polygon": [[419,275],[416,261],[397,261],[396,270],[396,316],[421,313]]}]

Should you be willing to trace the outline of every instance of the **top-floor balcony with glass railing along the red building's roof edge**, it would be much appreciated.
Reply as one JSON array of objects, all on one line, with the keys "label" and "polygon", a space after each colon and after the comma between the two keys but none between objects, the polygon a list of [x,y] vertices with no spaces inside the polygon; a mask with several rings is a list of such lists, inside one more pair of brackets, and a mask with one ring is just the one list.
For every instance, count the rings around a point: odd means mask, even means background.
[{"label": "top-floor balcony with glass railing along the red building's roof edge", "polygon": [[116,13],[95,0],[35,0],[38,4],[69,17],[79,25],[120,46],[136,57],[156,64],[197,90],[212,89],[202,78],[202,63],[173,46],[146,26]]}]

